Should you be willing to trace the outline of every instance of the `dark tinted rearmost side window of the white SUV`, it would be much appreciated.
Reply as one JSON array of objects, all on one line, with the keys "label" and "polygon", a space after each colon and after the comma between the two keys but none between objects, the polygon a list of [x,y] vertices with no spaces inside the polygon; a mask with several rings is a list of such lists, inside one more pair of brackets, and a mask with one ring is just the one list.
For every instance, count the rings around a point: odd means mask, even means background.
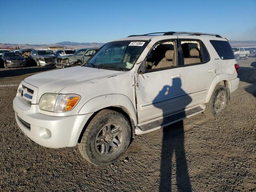
[{"label": "dark tinted rearmost side window of the white SUV", "polygon": [[234,52],[228,41],[210,40],[210,43],[222,60],[234,59]]}]

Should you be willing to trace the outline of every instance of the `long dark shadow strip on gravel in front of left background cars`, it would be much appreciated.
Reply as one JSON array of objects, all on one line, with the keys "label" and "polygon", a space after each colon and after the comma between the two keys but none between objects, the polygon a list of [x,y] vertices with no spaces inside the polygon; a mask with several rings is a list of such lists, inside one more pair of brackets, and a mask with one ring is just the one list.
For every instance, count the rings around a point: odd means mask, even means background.
[{"label": "long dark shadow strip on gravel in front of left background cars", "polygon": [[12,76],[18,76],[18,75],[25,75],[29,73],[37,73],[37,72],[43,72],[50,69],[54,69],[54,67],[29,67],[29,68],[15,68],[15,69],[8,69],[8,70],[0,70],[0,78],[1,77],[12,77]]}]

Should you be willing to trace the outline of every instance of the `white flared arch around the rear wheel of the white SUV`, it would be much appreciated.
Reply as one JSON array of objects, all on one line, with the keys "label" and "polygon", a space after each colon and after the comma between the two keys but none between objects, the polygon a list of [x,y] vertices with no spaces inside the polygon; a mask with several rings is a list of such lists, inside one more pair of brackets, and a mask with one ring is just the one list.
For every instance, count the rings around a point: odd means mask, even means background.
[{"label": "white flared arch around the rear wheel of the white SUV", "polygon": [[228,88],[229,90],[228,98],[230,98],[230,90],[231,90],[230,78],[227,74],[222,73],[222,74],[216,75],[212,80],[212,83],[206,95],[205,103],[208,103],[210,101],[214,88],[217,86],[217,84],[222,84],[223,86],[226,86]]}]

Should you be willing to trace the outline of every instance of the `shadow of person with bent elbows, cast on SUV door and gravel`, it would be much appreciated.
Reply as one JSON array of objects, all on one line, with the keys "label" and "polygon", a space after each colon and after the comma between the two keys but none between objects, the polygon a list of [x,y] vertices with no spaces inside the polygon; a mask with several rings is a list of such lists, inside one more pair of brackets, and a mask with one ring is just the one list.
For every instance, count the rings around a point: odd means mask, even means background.
[{"label": "shadow of person with bent elbows, cast on SUV door and gravel", "polygon": [[[192,101],[192,98],[181,88],[181,80],[173,79],[172,86],[164,86],[154,99],[155,107],[161,108],[164,112],[164,106],[159,105],[159,101],[163,98],[170,98],[172,92],[179,92],[181,95],[186,95],[186,99],[181,102],[182,108]],[[185,115],[181,114],[181,115]],[[167,120],[162,120],[161,125],[168,123]],[[172,190],[172,158],[175,154],[176,158],[176,185],[178,191],[191,191],[190,177],[188,174],[188,166],[184,149],[184,126],[183,121],[176,122],[163,128],[162,137],[162,153],[160,166],[160,192],[170,192]]]}]

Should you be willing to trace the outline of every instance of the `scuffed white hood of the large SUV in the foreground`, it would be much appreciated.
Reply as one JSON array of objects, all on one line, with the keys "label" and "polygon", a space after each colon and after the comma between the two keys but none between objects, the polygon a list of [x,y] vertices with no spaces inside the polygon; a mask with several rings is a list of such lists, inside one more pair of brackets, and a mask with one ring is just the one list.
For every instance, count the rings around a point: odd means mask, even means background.
[{"label": "scuffed white hood of the large SUV in the foreground", "polygon": [[116,76],[121,73],[124,72],[76,66],[35,74],[24,79],[24,81],[36,86],[39,89],[38,96],[40,96],[46,92],[58,93],[63,88],[79,84],[80,82],[107,76]]}]

